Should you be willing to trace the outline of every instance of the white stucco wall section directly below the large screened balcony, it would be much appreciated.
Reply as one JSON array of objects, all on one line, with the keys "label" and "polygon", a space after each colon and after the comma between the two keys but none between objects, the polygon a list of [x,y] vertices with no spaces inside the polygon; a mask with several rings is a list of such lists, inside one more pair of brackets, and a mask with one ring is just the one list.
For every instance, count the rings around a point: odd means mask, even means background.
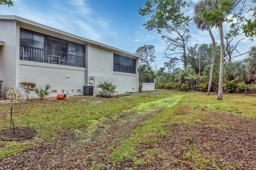
[{"label": "white stucco wall section directly below the large screened balcony", "polygon": [[[85,71],[84,68],[80,67],[21,61],[20,82],[23,81],[30,81],[37,85],[50,84],[52,86],[51,91],[56,90],[56,93],[52,93],[51,96],[64,93],[68,96],[83,95]],[[64,89],[64,92],[62,92],[62,89]],[[20,89],[20,92],[24,94],[22,89]],[[29,96],[38,97],[34,92]]]}]

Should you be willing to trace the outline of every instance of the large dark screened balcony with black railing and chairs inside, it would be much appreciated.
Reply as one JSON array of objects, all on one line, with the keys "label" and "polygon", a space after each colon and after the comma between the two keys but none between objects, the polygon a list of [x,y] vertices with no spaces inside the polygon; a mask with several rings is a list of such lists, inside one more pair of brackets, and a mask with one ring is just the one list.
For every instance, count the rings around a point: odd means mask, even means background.
[{"label": "large dark screened balcony with black railing and chairs inside", "polygon": [[85,45],[20,28],[20,59],[85,67]]}]

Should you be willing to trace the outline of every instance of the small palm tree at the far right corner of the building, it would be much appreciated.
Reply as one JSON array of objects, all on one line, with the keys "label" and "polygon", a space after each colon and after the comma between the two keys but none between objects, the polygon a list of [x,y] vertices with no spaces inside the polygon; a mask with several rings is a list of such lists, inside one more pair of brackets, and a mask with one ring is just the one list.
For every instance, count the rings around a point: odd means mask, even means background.
[{"label": "small palm tree at the far right corner of the building", "polygon": [[138,67],[139,71],[139,92],[142,92],[142,84],[143,84],[143,78],[155,78],[155,72],[152,70],[152,68],[146,64],[140,65]]}]

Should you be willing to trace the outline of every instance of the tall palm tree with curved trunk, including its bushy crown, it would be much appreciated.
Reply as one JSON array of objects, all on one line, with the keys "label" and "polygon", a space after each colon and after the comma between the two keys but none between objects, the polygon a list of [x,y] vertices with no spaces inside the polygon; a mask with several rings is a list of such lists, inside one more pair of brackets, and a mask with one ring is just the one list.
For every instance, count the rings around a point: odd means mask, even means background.
[{"label": "tall palm tree with curved trunk, including its bushy crown", "polygon": [[211,11],[211,10],[213,10],[214,6],[216,6],[210,2],[211,1],[201,0],[194,7],[194,23],[196,24],[196,28],[200,29],[202,31],[208,30],[210,37],[212,39],[212,62],[211,62],[211,71],[210,71],[207,95],[210,95],[210,91],[211,91],[211,87],[212,87],[212,77],[213,77],[214,62],[215,62],[215,55],[216,55],[216,43],[215,43],[214,36],[212,34],[210,23],[207,20],[204,20],[204,18],[203,18],[203,13],[205,11],[209,11],[209,10]]}]

